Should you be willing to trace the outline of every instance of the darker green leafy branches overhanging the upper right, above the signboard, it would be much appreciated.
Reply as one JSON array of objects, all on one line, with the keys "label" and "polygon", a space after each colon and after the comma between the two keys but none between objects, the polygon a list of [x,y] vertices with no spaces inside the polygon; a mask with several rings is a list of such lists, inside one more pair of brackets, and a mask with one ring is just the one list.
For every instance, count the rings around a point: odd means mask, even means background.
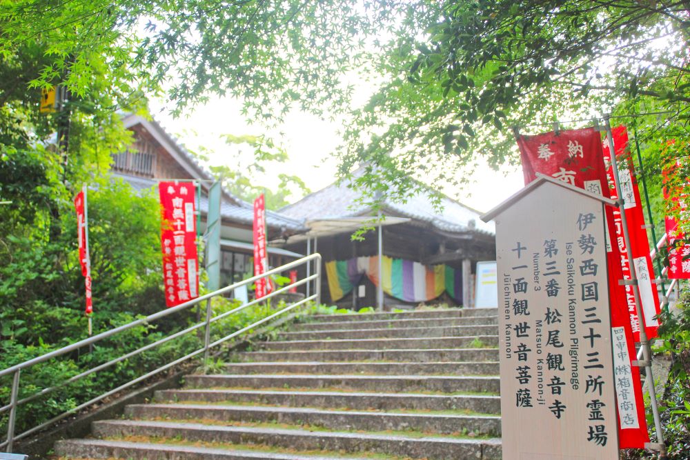
[{"label": "darker green leafy branches overhanging the upper right, above the signboard", "polygon": [[[357,183],[370,198],[375,174],[457,185],[460,166],[517,163],[511,127],[543,132],[558,118],[577,128],[603,112],[662,112],[613,122],[634,123],[655,174],[659,139],[687,144],[686,2],[429,3],[401,13],[372,64],[384,83],[345,133],[340,174],[373,163]],[[406,181],[391,183],[406,194]]]}]

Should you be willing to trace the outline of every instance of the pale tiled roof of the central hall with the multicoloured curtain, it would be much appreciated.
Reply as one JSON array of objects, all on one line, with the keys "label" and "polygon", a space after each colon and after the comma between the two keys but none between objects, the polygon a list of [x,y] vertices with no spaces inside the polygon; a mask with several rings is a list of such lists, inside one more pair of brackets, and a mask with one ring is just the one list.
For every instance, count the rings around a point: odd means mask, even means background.
[{"label": "pale tiled roof of the central hall with the multicoloured curtain", "polygon": [[[353,172],[357,177],[363,169]],[[361,216],[371,213],[371,209],[362,204],[355,204],[359,193],[348,188],[348,182],[340,185],[333,183],[306,197],[282,208],[280,212],[293,219],[302,221],[315,219],[337,219],[343,217]],[[405,203],[384,199],[383,210],[400,214],[417,221],[430,223],[433,227],[444,232],[484,232],[495,233],[493,222],[484,223],[480,219],[481,213],[462,203],[442,197],[442,210],[434,209],[431,200],[425,194],[410,197]]]}]

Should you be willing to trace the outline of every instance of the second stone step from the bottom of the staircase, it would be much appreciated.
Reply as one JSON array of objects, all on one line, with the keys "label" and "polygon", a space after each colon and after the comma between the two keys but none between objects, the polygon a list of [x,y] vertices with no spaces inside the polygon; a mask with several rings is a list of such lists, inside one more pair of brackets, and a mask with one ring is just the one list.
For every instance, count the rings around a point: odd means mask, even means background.
[{"label": "second stone step from the bottom of the staircase", "polygon": [[257,443],[297,450],[374,452],[429,460],[501,458],[500,439],[411,437],[139,420],[97,421],[93,423],[93,432],[101,438],[146,436],[188,442]]}]

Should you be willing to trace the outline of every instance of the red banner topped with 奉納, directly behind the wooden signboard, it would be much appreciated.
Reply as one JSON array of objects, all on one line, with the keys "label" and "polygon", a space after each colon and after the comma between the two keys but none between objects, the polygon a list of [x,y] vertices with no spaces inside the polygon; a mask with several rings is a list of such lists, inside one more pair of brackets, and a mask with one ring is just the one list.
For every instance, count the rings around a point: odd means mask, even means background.
[{"label": "red banner topped with \u5949\u7d0d, directly behind the wooden signboard", "polygon": [[[525,184],[535,180],[536,173],[540,172],[571,186],[609,197],[601,135],[594,128],[518,136],[517,146]],[[615,235],[613,208],[607,206],[605,212],[620,448],[644,448],[644,443],[649,442],[649,433],[644,418],[642,381],[639,368],[631,365],[636,352],[625,288],[618,284],[623,279],[620,251],[617,245],[611,245],[611,235]],[[630,388],[633,389],[632,394]]]}]

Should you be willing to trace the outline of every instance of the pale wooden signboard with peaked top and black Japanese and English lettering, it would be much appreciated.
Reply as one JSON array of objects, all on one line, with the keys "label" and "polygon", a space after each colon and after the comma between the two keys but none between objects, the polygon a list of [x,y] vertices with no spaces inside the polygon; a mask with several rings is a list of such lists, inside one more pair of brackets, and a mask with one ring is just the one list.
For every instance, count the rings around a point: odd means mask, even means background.
[{"label": "pale wooden signboard with peaked top and black Japanese and English lettering", "polygon": [[495,219],[504,460],[618,458],[604,202],[533,181]]}]

